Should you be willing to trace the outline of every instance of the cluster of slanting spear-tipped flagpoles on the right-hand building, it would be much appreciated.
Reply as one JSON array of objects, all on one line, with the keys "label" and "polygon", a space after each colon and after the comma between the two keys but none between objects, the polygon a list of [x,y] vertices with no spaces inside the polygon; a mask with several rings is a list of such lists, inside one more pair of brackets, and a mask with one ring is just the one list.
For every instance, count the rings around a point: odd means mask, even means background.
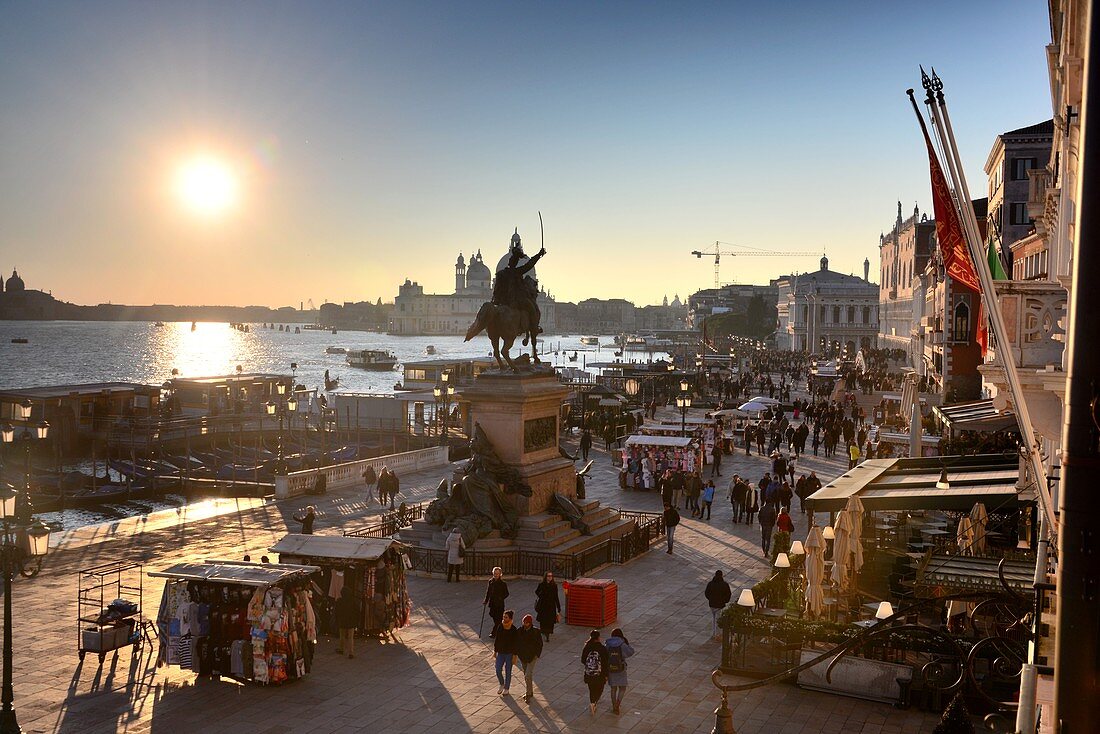
[{"label": "cluster of slanting spear-tipped flagpoles on the right-hand building", "polygon": [[[947,172],[952,177],[952,183],[955,189],[955,208],[956,211],[959,212],[959,217],[963,222],[965,222],[964,229],[966,237],[964,239],[967,243],[967,251],[970,253],[970,261],[975,273],[978,275],[980,285],[979,297],[981,298],[983,310],[993,327],[993,336],[996,337],[999,347],[997,350],[997,360],[1004,369],[1007,382],[1009,384],[1009,392],[1012,395],[1012,402],[1016,413],[1016,420],[1020,424],[1021,438],[1027,441],[1027,459],[1035,480],[1035,493],[1040,499],[1040,504],[1043,506],[1043,514],[1046,517],[1047,527],[1050,533],[1056,533],[1058,524],[1054,515],[1050,490],[1046,481],[1046,468],[1043,465],[1041,447],[1035,437],[1035,431],[1032,428],[1033,424],[1031,420],[1031,412],[1027,409],[1027,403],[1023,397],[1023,386],[1020,382],[1020,374],[1016,371],[1015,361],[1011,359],[1011,342],[1009,341],[1008,329],[1004,326],[1004,318],[1000,308],[997,307],[997,291],[993,287],[993,276],[989,272],[989,262],[985,256],[982,256],[981,242],[978,237],[976,227],[977,221],[974,215],[974,205],[970,202],[970,197],[967,194],[966,177],[961,169],[961,160],[959,158],[958,150],[955,146],[955,138],[952,132],[950,120],[946,114],[947,106],[944,101],[943,83],[938,77],[930,79],[927,75],[924,74],[924,69],[921,69],[921,75],[924,88],[927,90],[927,102],[931,109],[933,124],[936,128],[937,135],[941,139],[941,144],[944,147]],[[934,91],[935,94],[933,94]],[[920,108],[916,106],[916,99],[913,96],[913,90],[910,89],[906,94],[909,95],[910,101],[913,105],[913,110],[916,112],[917,119],[921,121],[921,128],[924,130],[925,138],[927,139],[927,129],[925,128],[924,118],[921,116]],[[937,110],[937,106],[942,109]],[[941,114],[937,114],[937,111],[939,111]],[[941,123],[939,120],[943,122]],[[963,197],[965,197],[965,205]]]}]

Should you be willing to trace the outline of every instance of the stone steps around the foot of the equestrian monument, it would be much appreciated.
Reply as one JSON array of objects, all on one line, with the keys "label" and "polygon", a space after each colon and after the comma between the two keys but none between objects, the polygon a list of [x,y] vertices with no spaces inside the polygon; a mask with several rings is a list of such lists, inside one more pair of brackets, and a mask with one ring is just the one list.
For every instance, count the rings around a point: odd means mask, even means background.
[{"label": "stone steps around the foot of the equestrian monument", "polygon": [[[597,544],[634,530],[635,522],[624,519],[610,507],[600,506],[596,500],[575,500],[584,512],[584,523],[591,535],[582,535],[568,519],[551,513],[539,513],[519,518],[515,538],[502,538],[497,530],[479,538],[473,550],[532,550],[549,554],[575,554]],[[442,548],[447,539],[443,529],[422,519],[399,533],[402,543],[425,548]]]}]

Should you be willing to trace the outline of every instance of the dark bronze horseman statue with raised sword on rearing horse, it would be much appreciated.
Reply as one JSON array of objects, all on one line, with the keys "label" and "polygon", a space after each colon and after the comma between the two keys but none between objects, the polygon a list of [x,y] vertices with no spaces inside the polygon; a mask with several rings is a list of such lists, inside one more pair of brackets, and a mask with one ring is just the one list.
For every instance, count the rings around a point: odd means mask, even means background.
[{"label": "dark bronze horseman statue with raised sword on rearing horse", "polygon": [[530,342],[530,361],[540,363],[536,344],[537,337],[542,331],[539,327],[542,316],[536,303],[539,286],[528,273],[535,270],[536,263],[546,253],[546,248],[542,248],[534,258],[528,258],[524,253],[519,233],[514,234],[507,264],[497,272],[493,284],[493,299],[482,305],[477,318],[466,331],[466,341],[482,331],[488,335],[493,341],[493,357],[502,370],[507,363],[514,372],[519,371],[519,366],[508,354],[517,337],[524,338],[525,347]]}]

